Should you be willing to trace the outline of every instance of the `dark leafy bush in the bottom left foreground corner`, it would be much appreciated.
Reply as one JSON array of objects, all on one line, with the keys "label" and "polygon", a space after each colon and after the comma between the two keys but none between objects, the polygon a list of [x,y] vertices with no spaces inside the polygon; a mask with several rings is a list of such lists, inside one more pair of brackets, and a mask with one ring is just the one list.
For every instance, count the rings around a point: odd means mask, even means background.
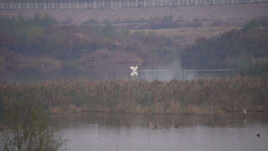
[{"label": "dark leafy bush in the bottom left foreground corner", "polygon": [[39,106],[9,104],[0,114],[0,151],[64,151],[64,142]]}]

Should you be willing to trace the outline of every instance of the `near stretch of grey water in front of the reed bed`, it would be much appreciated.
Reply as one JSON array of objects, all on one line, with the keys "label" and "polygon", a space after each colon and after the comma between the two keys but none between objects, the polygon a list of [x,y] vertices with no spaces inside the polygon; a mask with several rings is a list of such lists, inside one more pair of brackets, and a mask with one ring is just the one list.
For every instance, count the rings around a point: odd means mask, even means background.
[{"label": "near stretch of grey water in front of the reed bed", "polygon": [[[268,113],[194,115],[80,113],[51,115],[71,151],[267,151]],[[153,129],[157,124],[159,129]],[[174,128],[178,125],[178,128]],[[261,138],[256,134],[261,134]]]}]

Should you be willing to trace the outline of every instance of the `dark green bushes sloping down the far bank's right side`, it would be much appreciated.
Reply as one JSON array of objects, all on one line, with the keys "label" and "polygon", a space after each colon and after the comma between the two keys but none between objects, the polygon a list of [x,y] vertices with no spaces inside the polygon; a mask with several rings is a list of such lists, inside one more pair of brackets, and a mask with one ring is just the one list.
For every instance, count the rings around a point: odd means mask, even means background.
[{"label": "dark green bushes sloping down the far bank's right side", "polygon": [[243,29],[200,37],[181,53],[183,65],[216,69],[247,68],[247,62],[267,57],[268,17],[252,19]]}]

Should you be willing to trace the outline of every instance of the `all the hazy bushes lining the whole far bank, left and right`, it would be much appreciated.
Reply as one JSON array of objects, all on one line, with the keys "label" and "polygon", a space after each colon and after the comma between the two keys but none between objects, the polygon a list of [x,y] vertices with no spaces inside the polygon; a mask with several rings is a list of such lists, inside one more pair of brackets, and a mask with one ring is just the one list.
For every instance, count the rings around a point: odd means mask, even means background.
[{"label": "all the hazy bushes lining the whole far bank, left and right", "polygon": [[[146,26],[149,29],[178,28],[183,23],[184,27],[199,27],[202,21],[205,19],[182,22],[166,15],[150,18]],[[93,19],[91,22],[96,21]],[[218,26],[223,22],[210,24]],[[189,35],[189,31],[185,32]],[[31,18],[1,16],[0,63],[52,65],[181,59],[187,68],[218,69],[240,68],[239,63],[245,60],[267,57],[267,17],[253,19],[241,30],[224,32],[211,38],[200,37],[188,47],[185,44],[193,40],[180,35],[118,29],[108,20],[103,25],[62,25],[47,15],[36,14]]]}]

